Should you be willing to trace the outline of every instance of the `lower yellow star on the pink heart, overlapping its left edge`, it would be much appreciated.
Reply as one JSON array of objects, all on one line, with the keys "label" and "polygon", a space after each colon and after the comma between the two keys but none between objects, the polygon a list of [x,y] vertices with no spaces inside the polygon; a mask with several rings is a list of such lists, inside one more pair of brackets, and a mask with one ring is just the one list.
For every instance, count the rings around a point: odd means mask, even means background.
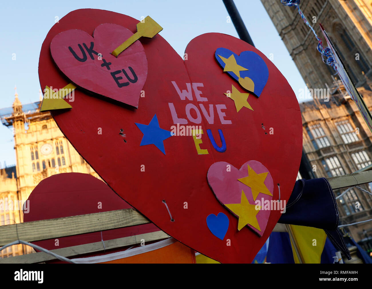
[{"label": "lower yellow star on the pink heart, overlapping its left edge", "polygon": [[238,216],[238,231],[244,228],[245,225],[250,224],[253,228],[256,228],[261,232],[256,215],[262,207],[259,206],[260,209],[256,210],[256,205],[249,204],[243,190],[241,190],[240,204],[227,204],[225,206]]}]

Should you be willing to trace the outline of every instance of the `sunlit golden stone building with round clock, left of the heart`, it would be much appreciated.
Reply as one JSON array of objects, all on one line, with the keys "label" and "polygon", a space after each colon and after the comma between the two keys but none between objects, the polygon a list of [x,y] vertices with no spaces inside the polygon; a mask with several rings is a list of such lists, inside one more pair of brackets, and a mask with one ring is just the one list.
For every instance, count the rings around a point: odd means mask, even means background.
[{"label": "sunlit golden stone building with round clock, left of the heart", "polygon": [[[23,222],[23,204],[19,206],[18,201],[25,202],[35,186],[51,175],[80,172],[99,178],[64,137],[51,114],[39,112],[40,105],[41,101],[22,105],[16,92],[12,107],[0,109],[2,124],[14,131],[16,155],[16,166],[0,170],[0,225]],[[32,250],[13,245],[1,251],[0,257]]]}]

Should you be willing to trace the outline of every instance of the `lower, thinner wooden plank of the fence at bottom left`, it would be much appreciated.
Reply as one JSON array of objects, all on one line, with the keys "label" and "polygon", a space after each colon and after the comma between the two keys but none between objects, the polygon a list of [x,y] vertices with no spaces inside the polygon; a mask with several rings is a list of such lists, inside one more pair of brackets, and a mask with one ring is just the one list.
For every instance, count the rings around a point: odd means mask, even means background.
[{"label": "lower, thinner wooden plank of the fence at bottom left", "polygon": [[[157,232],[152,232],[152,233],[140,234],[137,236],[130,236],[130,237],[113,239],[113,240],[107,240],[105,241],[105,248],[106,250],[109,250],[109,249],[115,249],[119,247],[139,244],[141,243],[141,239],[144,239],[145,242],[150,242],[150,241],[161,240],[161,239],[165,239],[169,237],[170,236],[168,236],[163,231],[157,231]],[[103,250],[104,250],[103,244],[102,244],[102,241],[100,241],[100,242],[94,242],[94,243],[83,244],[83,245],[78,245],[78,246],[55,249],[51,251],[60,256],[70,257],[70,256],[77,256],[80,254],[92,253],[92,252],[103,251]],[[31,263],[45,262],[45,261],[54,260],[54,259],[55,257],[52,255],[49,255],[48,253],[38,252],[38,253],[27,254],[27,255],[1,258],[0,264],[1,263],[31,264]]]}]

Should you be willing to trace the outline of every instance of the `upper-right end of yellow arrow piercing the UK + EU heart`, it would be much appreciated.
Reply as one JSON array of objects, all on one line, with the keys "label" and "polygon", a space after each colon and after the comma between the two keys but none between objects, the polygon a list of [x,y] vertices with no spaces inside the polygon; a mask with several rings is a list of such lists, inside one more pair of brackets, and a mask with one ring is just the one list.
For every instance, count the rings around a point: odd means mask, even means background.
[{"label": "upper-right end of yellow arrow piercing the UK + EU heart", "polygon": [[158,25],[158,23],[156,23],[150,16],[147,16],[145,19],[137,24],[137,32],[126,39],[121,45],[119,45],[118,48],[111,52],[111,54],[115,57],[118,57],[120,53],[122,53],[140,37],[153,38],[161,30],[163,30],[163,27]]}]

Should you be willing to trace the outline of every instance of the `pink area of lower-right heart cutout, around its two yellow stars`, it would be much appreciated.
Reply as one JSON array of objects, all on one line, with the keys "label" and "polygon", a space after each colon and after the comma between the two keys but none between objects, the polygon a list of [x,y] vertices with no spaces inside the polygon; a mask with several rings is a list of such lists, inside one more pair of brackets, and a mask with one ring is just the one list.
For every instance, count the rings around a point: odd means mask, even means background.
[{"label": "pink area of lower-right heart cutout, around its two yellow stars", "polygon": [[[219,202],[221,202],[222,205],[240,204],[242,190],[244,191],[244,194],[246,195],[248,202],[251,205],[255,204],[251,188],[243,184],[242,182],[238,181],[238,179],[248,176],[247,165],[249,165],[251,169],[253,169],[254,172],[256,172],[257,174],[268,172],[264,184],[273,195],[274,184],[272,176],[269,170],[257,160],[250,160],[244,163],[244,165],[241,166],[239,170],[227,162],[216,162],[210,166],[207,173],[207,179],[213,193],[215,194],[216,198],[218,199]],[[257,195],[256,201],[259,200],[260,202],[259,204],[261,206],[264,206],[264,202],[266,200],[271,201],[272,199],[273,199],[272,196],[259,193]],[[233,215],[235,215],[234,212],[232,212],[229,208],[227,208],[227,210],[229,210]],[[248,224],[248,227],[250,227],[254,232],[262,236],[265,231],[267,221],[269,220],[269,216],[270,210],[260,210],[257,213],[256,218],[261,228],[261,231],[257,230],[250,224]]]}]

